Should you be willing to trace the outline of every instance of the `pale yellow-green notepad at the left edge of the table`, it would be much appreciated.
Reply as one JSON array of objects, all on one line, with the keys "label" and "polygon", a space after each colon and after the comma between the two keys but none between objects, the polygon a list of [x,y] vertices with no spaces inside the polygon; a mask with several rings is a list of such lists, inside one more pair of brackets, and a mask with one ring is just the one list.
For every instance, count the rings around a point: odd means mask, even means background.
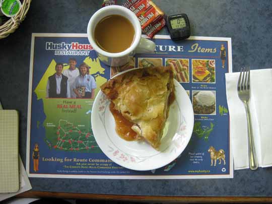
[{"label": "pale yellow-green notepad at the left edge of the table", "polygon": [[19,113],[0,110],[0,193],[19,190]]}]

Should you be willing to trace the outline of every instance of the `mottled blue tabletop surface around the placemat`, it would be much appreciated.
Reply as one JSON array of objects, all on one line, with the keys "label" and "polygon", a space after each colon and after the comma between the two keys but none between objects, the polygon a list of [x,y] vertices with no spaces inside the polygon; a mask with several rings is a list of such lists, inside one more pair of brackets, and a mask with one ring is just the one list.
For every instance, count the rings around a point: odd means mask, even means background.
[{"label": "mottled blue tabletop surface around the placemat", "polygon": [[[117,1],[119,5],[123,1]],[[271,68],[271,1],[154,0],[166,15],[187,14],[192,36],[231,37],[233,72]],[[0,40],[0,100],[20,112],[26,162],[27,105],[32,33],[86,33],[102,1],[32,1],[26,19]],[[166,28],[158,34],[168,34]],[[272,196],[272,168],[239,170],[233,179],[105,180],[30,178],[33,190],[131,195]]]}]

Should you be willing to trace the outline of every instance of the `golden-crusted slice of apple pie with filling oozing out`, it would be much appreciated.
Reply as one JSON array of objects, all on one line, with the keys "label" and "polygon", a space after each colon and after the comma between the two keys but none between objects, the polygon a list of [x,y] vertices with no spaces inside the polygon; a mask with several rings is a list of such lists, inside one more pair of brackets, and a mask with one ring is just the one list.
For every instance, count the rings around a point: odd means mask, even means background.
[{"label": "golden-crusted slice of apple pie with filling oozing out", "polygon": [[111,100],[119,136],[128,141],[145,139],[157,149],[174,100],[170,67],[136,69],[109,80],[101,90]]}]

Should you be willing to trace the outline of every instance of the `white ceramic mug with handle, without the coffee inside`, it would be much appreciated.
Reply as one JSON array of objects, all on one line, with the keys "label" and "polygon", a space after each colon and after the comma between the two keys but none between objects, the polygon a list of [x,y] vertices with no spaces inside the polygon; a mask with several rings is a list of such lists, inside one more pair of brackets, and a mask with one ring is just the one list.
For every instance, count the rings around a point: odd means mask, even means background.
[{"label": "white ceramic mug with handle, without the coffee inside", "polygon": [[[118,53],[110,53],[102,50],[94,39],[94,32],[96,25],[105,18],[106,16],[120,15],[125,17],[134,27],[135,36],[130,47],[126,50]],[[105,28],[105,32],[107,29]],[[90,19],[87,28],[88,39],[100,61],[110,66],[121,66],[128,62],[129,57],[133,56],[135,53],[153,53],[155,51],[155,43],[151,40],[141,37],[142,29],[137,16],[121,6],[107,6],[98,10]],[[114,40],[114,39],[112,39]]]}]

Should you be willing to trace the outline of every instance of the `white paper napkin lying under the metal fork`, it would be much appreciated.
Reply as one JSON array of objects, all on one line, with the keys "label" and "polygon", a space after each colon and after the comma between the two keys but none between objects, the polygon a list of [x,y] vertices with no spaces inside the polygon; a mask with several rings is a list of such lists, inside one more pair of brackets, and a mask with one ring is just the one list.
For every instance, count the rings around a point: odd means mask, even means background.
[{"label": "white paper napkin lying under the metal fork", "polygon": [[[239,75],[226,74],[235,170],[249,168],[246,112],[237,93]],[[250,94],[249,109],[258,165],[269,167],[272,166],[272,69],[250,71]]]}]

